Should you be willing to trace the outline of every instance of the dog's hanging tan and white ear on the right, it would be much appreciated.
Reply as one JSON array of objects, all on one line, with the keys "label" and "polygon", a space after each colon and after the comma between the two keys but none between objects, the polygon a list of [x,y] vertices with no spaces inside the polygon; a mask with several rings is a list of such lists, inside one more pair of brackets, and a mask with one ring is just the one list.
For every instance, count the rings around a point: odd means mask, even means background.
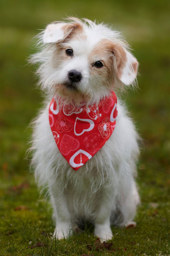
[{"label": "dog's hanging tan and white ear on the right", "polygon": [[130,85],[136,78],[137,59],[122,46],[114,48],[116,58],[116,75],[125,85]]}]

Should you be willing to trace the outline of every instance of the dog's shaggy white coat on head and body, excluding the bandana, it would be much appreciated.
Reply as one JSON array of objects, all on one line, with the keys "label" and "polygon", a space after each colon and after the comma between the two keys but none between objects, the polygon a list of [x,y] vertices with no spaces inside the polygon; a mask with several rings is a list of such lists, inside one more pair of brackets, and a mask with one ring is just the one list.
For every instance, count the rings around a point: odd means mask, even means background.
[{"label": "dog's shaggy white coat on head and body, excluding the bandana", "polygon": [[[63,26],[73,23],[83,27],[83,30],[75,32],[75,38],[74,28],[67,35],[62,31]],[[67,39],[71,32],[73,36]],[[121,62],[122,71],[118,75],[116,55],[113,56],[114,69],[112,74],[109,73],[110,76],[106,66],[96,69],[92,65],[98,60],[107,63],[112,56],[112,53],[103,56],[102,49],[101,53],[99,51],[93,55],[94,49],[103,39],[122,47],[126,53],[126,62]],[[37,73],[42,89],[47,92],[47,101],[34,121],[32,165],[38,185],[47,185],[49,189],[56,221],[54,234],[58,239],[66,237],[78,221],[85,219],[94,223],[96,236],[102,240],[111,239],[110,224],[125,226],[133,223],[136,206],[140,202],[134,181],[139,155],[134,124],[118,99],[116,127],[110,139],[85,165],[74,171],[61,155],[51,133],[49,101],[54,94],[59,94],[71,103],[83,101],[88,105],[98,102],[101,97],[109,95],[112,89],[119,88],[122,82],[129,85],[135,80],[132,63],[137,61],[118,32],[88,20],[82,22],[73,18],[68,23],[52,23],[41,33],[40,41],[42,50],[32,56],[31,62],[40,63]],[[60,52],[60,44],[72,48],[74,57],[64,55],[65,51]],[[76,84],[76,92],[65,88],[70,69],[82,74],[82,80]],[[84,100],[81,98],[83,95],[88,98]]]}]

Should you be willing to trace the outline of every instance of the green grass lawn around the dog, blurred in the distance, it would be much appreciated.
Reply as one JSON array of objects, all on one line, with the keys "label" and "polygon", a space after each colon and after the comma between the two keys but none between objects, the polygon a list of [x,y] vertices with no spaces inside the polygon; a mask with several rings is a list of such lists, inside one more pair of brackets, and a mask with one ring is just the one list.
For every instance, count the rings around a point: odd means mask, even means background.
[{"label": "green grass lawn around the dog, blurred in the distance", "polygon": [[[143,138],[138,164],[141,206],[135,229],[112,227],[110,249],[98,248],[93,227],[67,240],[52,240],[54,224],[48,200],[40,196],[29,172],[29,123],[42,105],[35,89],[33,37],[47,23],[66,15],[113,24],[138,59],[139,88],[123,94]],[[1,177],[0,255],[170,254],[169,4],[150,1],[1,0]]]}]

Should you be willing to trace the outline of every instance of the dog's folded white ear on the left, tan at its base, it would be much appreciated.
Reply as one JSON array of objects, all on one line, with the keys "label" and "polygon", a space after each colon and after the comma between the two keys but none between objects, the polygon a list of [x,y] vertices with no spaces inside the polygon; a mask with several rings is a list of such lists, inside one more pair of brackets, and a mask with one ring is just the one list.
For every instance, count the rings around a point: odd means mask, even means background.
[{"label": "dog's folded white ear on the left, tan at its base", "polygon": [[61,42],[76,30],[83,30],[83,26],[79,23],[51,23],[45,29],[43,34],[43,42]]}]

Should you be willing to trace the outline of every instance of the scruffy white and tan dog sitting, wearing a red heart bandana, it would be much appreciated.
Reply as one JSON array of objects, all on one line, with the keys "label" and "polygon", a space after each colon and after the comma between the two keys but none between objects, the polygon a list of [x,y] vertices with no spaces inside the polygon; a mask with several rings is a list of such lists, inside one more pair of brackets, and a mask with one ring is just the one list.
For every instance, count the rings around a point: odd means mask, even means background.
[{"label": "scruffy white and tan dog sitting, wearing a red heart bandana", "polygon": [[49,24],[31,56],[45,91],[34,121],[33,159],[48,186],[58,239],[82,219],[101,240],[110,224],[134,224],[139,155],[134,124],[114,91],[134,85],[138,62],[119,32],[87,19]]}]

